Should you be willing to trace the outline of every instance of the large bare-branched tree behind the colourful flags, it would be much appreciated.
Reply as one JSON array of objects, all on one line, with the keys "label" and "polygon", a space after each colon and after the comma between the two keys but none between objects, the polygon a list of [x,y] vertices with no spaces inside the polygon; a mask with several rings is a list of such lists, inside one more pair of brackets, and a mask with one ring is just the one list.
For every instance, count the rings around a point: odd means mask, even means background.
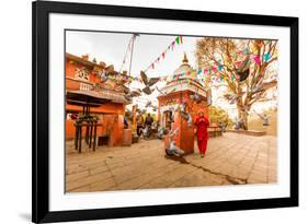
[{"label": "large bare-branched tree behind the colourful flags", "polygon": [[[248,113],[251,106],[277,81],[266,73],[277,61],[276,40],[233,39],[204,37],[196,43],[196,59],[201,68],[207,68],[206,84],[218,75],[228,86],[228,97],[235,97],[239,119],[248,129]],[[210,69],[215,71],[210,72]],[[218,69],[217,69],[218,68]]]}]

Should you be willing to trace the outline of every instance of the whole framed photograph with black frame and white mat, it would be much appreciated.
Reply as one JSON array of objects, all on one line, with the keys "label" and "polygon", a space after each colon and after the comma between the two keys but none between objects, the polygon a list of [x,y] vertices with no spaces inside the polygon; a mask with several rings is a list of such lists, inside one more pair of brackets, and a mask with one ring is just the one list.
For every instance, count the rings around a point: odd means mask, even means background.
[{"label": "whole framed photograph with black frame and white mat", "polygon": [[298,19],[33,2],[33,222],[298,205]]}]

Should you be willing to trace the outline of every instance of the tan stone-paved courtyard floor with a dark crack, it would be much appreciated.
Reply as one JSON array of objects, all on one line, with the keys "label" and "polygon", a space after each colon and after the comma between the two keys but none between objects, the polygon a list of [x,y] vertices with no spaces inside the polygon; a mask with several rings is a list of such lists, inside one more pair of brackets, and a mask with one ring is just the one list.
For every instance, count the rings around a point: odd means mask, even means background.
[{"label": "tan stone-paved courtyard floor with a dark crack", "polygon": [[101,146],[81,154],[67,142],[66,190],[88,192],[217,185],[276,182],[276,138],[225,133],[195,153],[166,157],[160,140],[132,146]]}]

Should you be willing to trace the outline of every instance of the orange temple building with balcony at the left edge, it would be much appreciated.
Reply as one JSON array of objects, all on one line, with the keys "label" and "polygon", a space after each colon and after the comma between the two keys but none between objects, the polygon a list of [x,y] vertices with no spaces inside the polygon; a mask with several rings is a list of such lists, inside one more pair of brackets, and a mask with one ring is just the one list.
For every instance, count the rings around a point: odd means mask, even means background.
[{"label": "orange temple building with balcony at the left edge", "polygon": [[[107,74],[102,81],[101,74]],[[109,146],[122,145],[125,106],[132,102],[124,96],[126,74],[113,66],[96,63],[89,57],[66,54],[66,139],[76,137],[76,118],[91,115],[98,118],[98,139]],[[85,130],[81,131],[84,137]],[[102,141],[100,141],[102,140]]]}]

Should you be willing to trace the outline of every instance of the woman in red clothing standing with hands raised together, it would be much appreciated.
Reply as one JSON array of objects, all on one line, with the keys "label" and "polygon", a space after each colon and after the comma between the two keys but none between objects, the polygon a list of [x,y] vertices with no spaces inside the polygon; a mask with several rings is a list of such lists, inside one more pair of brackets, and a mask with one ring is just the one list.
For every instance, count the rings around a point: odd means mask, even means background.
[{"label": "woman in red clothing standing with hands raised together", "polygon": [[208,133],[207,133],[207,127],[209,126],[209,121],[207,117],[204,116],[204,113],[201,110],[198,111],[198,116],[195,120],[196,126],[196,134],[197,134],[197,144],[198,144],[198,151],[202,157],[204,157],[204,154],[206,152],[207,148],[207,140],[208,140]]}]

